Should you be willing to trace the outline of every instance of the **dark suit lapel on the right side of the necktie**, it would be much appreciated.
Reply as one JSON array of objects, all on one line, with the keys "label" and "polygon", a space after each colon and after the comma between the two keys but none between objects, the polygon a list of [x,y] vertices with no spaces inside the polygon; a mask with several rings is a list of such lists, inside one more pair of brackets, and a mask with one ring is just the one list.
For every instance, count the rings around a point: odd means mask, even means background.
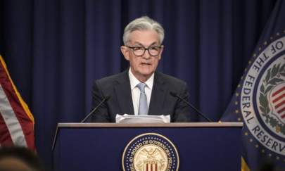
[{"label": "dark suit lapel on the right side of the necktie", "polygon": [[151,103],[148,109],[148,115],[163,115],[161,113],[165,100],[166,87],[163,78],[156,72],[153,80],[153,90],[151,91]]}]

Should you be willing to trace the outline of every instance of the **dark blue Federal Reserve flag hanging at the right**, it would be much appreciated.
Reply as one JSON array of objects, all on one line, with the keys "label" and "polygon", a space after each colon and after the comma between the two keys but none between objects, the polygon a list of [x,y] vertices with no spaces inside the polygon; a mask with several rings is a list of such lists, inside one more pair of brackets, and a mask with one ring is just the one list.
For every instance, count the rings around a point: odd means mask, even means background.
[{"label": "dark blue Federal Reserve flag hanging at the right", "polygon": [[285,170],[285,1],[276,2],[221,120],[244,123],[242,170]]}]

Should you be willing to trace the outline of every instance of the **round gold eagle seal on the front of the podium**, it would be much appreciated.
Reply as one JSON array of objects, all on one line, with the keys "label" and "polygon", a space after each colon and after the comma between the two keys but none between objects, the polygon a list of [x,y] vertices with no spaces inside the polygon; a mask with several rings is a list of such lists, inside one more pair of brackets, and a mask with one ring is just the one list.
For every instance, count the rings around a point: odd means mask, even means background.
[{"label": "round gold eagle seal on the front of the podium", "polygon": [[174,144],[156,133],[141,134],[127,144],[122,154],[124,171],[178,170],[179,156]]}]

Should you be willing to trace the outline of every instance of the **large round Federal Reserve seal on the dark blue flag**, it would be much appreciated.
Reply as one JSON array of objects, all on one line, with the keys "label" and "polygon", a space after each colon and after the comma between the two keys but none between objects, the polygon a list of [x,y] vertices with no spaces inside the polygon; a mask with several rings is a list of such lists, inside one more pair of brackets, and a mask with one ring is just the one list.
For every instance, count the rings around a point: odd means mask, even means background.
[{"label": "large round Federal Reserve seal on the dark blue flag", "polygon": [[285,37],[255,58],[243,81],[240,108],[253,137],[285,156]]}]

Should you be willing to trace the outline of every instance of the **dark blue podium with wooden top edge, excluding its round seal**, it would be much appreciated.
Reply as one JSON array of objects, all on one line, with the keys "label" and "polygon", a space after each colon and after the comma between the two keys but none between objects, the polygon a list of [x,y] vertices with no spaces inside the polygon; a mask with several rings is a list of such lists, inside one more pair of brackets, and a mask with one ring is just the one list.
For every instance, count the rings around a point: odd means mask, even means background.
[{"label": "dark blue podium with wooden top edge, excluding its round seal", "polygon": [[241,170],[241,122],[58,123],[53,142],[55,170],[123,170],[122,154],[134,137],[156,133],[170,139],[179,170]]}]

